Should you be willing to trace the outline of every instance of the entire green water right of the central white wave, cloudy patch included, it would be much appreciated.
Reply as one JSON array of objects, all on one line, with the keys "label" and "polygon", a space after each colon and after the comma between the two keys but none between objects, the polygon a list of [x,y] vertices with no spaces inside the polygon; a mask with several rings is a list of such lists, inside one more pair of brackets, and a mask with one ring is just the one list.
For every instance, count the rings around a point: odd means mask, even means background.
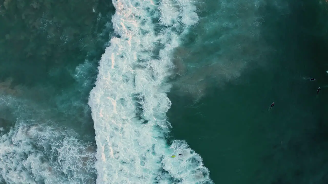
[{"label": "entire green water right of the central white wave, cloudy patch included", "polygon": [[[243,15],[240,25],[222,28],[227,19],[220,22],[216,10],[199,14],[214,17],[219,25],[214,33],[220,35],[206,40],[207,26],[195,27],[184,46],[192,51],[182,59],[188,64],[178,83],[201,90],[190,93],[183,85],[171,90],[173,136],[202,156],[215,183],[327,183],[327,95],[324,90],[316,95],[318,87],[327,85],[326,2],[262,3],[252,10],[264,20],[258,27],[242,25],[259,18]],[[249,36],[249,30],[258,35]],[[229,36],[229,41],[223,39]],[[201,51],[194,55],[194,49]],[[222,64],[228,56],[236,64]],[[310,77],[317,80],[312,83]],[[275,106],[269,110],[272,101]]]}]

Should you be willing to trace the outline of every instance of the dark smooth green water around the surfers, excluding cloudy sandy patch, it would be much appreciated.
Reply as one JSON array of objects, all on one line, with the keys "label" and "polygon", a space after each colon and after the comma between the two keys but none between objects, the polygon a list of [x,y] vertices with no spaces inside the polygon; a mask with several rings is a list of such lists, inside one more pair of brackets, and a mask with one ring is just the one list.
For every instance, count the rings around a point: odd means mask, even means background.
[{"label": "dark smooth green water around the surfers, excluding cloudy sandy patch", "polygon": [[248,67],[196,104],[169,94],[172,135],[203,157],[215,183],[328,183],[328,95],[316,95],[328,83],[324,3],[290,0],[288,13],[267,3],[261,35],[274,51],[264,68]]}]

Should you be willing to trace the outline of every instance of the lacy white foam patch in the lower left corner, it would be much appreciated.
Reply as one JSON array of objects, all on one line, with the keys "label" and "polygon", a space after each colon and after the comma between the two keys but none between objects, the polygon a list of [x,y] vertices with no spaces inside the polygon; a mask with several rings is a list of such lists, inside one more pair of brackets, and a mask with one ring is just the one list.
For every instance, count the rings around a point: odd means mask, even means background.
[{"label": "lacy white foam patch in the lower left corner", "polygon": [[72,130],[17,122],[0,137],[0,182],[93,183],[94,151]]}]

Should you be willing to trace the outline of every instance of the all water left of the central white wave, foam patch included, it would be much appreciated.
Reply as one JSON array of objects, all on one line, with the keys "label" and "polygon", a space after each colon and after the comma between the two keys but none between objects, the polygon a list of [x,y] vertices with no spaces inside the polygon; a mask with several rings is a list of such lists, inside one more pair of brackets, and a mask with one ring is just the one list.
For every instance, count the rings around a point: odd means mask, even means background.
[{"label": "all water left of the central white wave, foam patch included", "polygon": [[95,183],[87,103],[113,32],[113,5],[0,5],[0,183]]}]

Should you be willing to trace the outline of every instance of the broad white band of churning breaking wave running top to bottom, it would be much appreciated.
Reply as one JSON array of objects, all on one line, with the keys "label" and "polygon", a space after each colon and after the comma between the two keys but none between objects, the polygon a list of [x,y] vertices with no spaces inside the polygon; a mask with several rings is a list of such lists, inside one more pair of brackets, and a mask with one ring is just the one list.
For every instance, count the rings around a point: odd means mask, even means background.
[{"label": "broad white band of churning breaking wave running top to bottom", "polygon": [[[90,92],[97,183],[213,183],[185,141],[167,145],[165,83],[179,37],[198,22],[188,0],[115,1],[113,37]],[[182,154],[172,158],[172,155]]]}]

